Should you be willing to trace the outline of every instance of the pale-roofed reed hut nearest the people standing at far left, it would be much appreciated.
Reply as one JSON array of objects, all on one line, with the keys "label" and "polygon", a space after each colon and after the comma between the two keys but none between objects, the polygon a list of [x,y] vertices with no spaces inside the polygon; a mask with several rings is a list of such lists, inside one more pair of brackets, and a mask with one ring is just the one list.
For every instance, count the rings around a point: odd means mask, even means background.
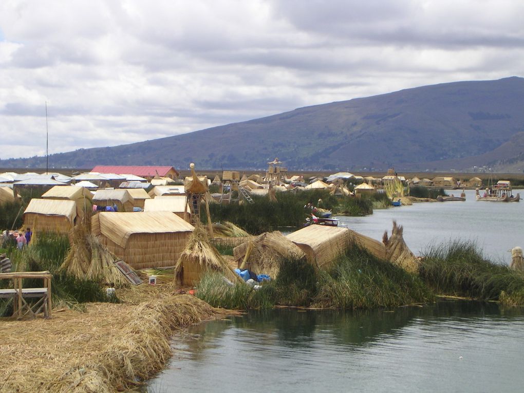
[{"label": "pale-roofed reed hut nearest the people standing at far left", "polygon": [[35,238],[40,232],[67,234],[74,226],[76,218],[75,201],[31,199],[24,211],[24,227],[31,228]]}]

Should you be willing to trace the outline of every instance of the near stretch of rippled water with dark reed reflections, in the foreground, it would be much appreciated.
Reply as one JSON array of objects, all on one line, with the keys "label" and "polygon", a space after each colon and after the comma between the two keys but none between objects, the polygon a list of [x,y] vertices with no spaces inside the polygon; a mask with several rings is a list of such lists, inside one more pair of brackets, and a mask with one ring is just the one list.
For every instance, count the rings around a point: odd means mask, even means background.
[{"label": "near stretch of rippled water with dark reed reflections, in the foreground", "polygon": [[440,301],[276,309],[194,326],[152,391],[520,391],[524,312]]}]

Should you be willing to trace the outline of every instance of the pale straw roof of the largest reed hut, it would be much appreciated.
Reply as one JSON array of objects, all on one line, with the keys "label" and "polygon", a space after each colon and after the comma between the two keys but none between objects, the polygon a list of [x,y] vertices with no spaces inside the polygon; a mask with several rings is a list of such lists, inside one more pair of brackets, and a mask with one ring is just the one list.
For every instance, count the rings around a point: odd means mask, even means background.
[{"label": "pale straw roof of the largest reed hut", "polygon": [[170,212],[100,212],[94,217],[97,219],[93,219],[93,233],[102,234],[123,248],[132,234],[192,232],[194,230],[193,225]]}]

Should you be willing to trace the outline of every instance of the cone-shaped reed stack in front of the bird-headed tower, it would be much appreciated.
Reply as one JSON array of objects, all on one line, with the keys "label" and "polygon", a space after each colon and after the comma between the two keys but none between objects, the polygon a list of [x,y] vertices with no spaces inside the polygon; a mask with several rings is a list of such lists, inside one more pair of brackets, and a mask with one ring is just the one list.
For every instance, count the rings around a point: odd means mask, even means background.
[{"label": "cone-shaped reed stack in front of the bird-headed tower", "polygon": [[198,226],[189,236],[188,243],[174,266],[174,276],[182,285],[194,286],[207,271],[219,271],[232,282],[242,281],[209,242],[205,229]]}]

